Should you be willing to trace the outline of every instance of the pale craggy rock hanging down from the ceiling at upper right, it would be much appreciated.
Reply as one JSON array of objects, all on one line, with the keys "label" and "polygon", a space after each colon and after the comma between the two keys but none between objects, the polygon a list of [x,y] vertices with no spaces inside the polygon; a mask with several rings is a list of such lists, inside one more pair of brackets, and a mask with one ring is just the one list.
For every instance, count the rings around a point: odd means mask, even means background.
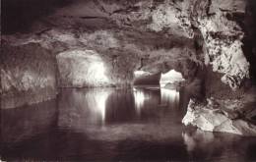
[{"label": "pale craggy rock hanging down from the ceiling at upper right", "polygon": [[[205,64],[214,72],[224,74],[222,81],[236,89],[249,78],[249,63],[242,50],[243,29],[236,15],[245,15],[245,1],[178,1],[162,4],[153,13],[152,27],[172,27],[178,24],[187,36],[194,36],[198,28],[206,45]],[[232,17],[232,20],[229,18]]]}]

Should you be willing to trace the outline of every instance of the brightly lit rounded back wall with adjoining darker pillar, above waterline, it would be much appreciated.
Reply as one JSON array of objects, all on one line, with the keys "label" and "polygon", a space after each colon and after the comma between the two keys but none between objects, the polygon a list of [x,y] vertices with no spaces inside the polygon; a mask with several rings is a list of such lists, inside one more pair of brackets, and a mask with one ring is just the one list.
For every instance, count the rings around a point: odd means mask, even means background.
[{"label": "brightly lit rounded back wall with adjoining darker pillar, above waterline", "polygon": [[64,51],[56,57],[60,87],[130,85],[137,64],[130,62],[129,55],[113,59],[87,49]]}]

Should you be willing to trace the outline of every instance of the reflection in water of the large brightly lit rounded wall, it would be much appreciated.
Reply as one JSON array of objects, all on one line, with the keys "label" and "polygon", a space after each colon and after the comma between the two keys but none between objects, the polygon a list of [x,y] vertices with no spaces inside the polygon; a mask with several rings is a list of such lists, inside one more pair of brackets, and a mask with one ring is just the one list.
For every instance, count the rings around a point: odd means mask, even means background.
[{"label": "reflection in water of the large brightly lit rounded wall", "polygon": [[62,89],[59,97],[60,127],[101,126],[105,121],[106,100],[111,94],[111,88]]}]

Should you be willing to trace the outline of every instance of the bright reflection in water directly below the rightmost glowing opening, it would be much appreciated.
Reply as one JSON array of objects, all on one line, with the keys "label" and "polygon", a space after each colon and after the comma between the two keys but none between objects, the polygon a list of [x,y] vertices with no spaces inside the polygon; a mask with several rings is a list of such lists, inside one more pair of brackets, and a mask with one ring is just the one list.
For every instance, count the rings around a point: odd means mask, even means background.
[{"label": "bright reflection in water directly below the rightmost glowing opening", "polygon": [[179,101],[179,91],[160,88],[161,103],[175,103]]}]

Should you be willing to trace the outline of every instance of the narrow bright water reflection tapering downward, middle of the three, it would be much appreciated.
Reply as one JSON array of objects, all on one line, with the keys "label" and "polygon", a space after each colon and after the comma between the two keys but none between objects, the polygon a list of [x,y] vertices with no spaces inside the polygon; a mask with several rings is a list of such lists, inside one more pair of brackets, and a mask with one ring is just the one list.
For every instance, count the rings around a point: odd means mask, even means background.
[{"label": "narrow bright water reflection tapering downward, middle of the three", "polygon": [[135,99],[135,107],[138,113],[141,112],[142,107],[144,106],[145,100],[149,99],[150,96],[145,94],[145,92],[140,88],[133,88],[133,94]]}]

